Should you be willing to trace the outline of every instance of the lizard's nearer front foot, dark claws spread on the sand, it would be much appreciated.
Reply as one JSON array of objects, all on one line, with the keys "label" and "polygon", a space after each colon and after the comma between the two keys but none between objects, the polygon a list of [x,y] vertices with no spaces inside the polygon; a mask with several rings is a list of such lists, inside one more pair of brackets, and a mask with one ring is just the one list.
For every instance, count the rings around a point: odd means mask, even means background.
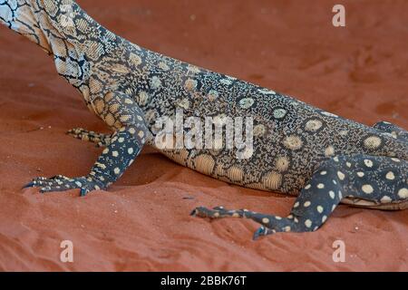
[{"label": "lizard's nearer front foot, dark claws spread on the sand", "polygon": [[105,186],[101,181],[96,181],[90,177],[70,179],[62,175],[57,175],[53,178],[39,177],[33,179],[33,181],[23,187],[23,189],[26,188],[40,188],[41,193],[81,189],[81,196],[83,197],[92,190],[105,189]]}]

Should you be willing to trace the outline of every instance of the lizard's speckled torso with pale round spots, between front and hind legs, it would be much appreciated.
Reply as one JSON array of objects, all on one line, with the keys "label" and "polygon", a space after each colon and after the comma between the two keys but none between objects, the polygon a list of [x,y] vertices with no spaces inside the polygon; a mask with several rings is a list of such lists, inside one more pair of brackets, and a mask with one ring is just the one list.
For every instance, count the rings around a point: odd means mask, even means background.
[{"label": "lizard's speckled torso with pale round spots, between front and hind legs", "polygon": [[[119,88],[141,107],[153,136],[157,120],[165,116],[174,121],[176,110],[182,110],[184,119],[199,117],[202,124],[208,116],[221,123],[226,117],[253,119],[253,151],[242,152],[248,158],[238,159],[237,148],[225,148],[225,131],[220,150],[159,149],[190,169],[248,188],[296,194],[319,164],[336,155],[367,153],[408,159],[407,144],[389,133],[256,84],[121,42],[126,52],[123,61],[106,63],[102,58],[99,65],[104,70],[110,67],[110,75],[122,73]],[[97,102],[95,98],[93,104]],[[156,147],[153,140],[150,144]]]}]

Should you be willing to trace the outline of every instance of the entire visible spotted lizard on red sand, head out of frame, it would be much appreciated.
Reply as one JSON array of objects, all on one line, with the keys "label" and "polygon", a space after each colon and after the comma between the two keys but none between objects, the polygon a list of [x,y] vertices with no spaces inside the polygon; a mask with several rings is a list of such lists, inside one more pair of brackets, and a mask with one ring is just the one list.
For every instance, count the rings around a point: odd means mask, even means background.
[{"label": "entire visible spotted lizard on red sand, head out of frame", "polygon": [[[112,135],[75,129],[73,137],[106,147],[85,177],[38,178],[42,192],[107,189],[159,130],[160,117],[251,117],[253,150],[161,150],[171,160],[247,188],[298,195],[287,218],[249,210],[196,208],[204,218],[252,218],[255,237],[321,227],[337,204],[405,208],[408,132],[387,122],[373,128],[316,109],[287,95],[143,49],[97,24],[72,0],[0,0],[0,23],[53,55]],[[184,130],[188,132],[187,129]],[[225,140],[222,140],[225,142]]]}]

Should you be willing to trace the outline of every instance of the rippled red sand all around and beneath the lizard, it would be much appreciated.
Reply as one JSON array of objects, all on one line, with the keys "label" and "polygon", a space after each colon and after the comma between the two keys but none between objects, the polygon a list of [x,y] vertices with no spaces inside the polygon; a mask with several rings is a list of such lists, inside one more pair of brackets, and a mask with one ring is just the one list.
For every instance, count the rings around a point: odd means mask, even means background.
[{"label": "rippled red sand all around and beneath the lizard", "polygon": [[[152,50],[356,121],[408,128],[408,3],[342,1],[347,26],[335,28],[337,2],[79,1]],[[253,242],[249,220],[209,223],[189,212],[223,205],[285,215],[294,198],[229,186],[150,149],[109,192],[22,191],[39,175],[86,174],[101,150],[64,131],[106,127],[38,47],[0,31],[0,270],[408,270],[407,210],[341,206],[316,233]],[[59,260],[65,239],[71,264]],[[336,239],[345,263],[332,260]]]}]

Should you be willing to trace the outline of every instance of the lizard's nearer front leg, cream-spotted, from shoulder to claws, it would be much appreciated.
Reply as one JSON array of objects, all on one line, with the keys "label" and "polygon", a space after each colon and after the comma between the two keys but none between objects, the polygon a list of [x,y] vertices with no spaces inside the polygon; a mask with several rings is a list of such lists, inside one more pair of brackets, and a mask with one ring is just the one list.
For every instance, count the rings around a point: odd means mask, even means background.
[{"label": "lizard's nearer front leg, cream-spotted, from shoulder to claws", "polygon": [[38,187],[40,192],[81,189],[84,196],[94,189],[107,189],[121,177],[141,152],[146,141],[147,127],[139,106],[121,93],[107,94],[103,100],[102,120],[115,129],[112,140],[94,163],[90,173],[79,178],[61,175],[37,178],[24,188]]}]

